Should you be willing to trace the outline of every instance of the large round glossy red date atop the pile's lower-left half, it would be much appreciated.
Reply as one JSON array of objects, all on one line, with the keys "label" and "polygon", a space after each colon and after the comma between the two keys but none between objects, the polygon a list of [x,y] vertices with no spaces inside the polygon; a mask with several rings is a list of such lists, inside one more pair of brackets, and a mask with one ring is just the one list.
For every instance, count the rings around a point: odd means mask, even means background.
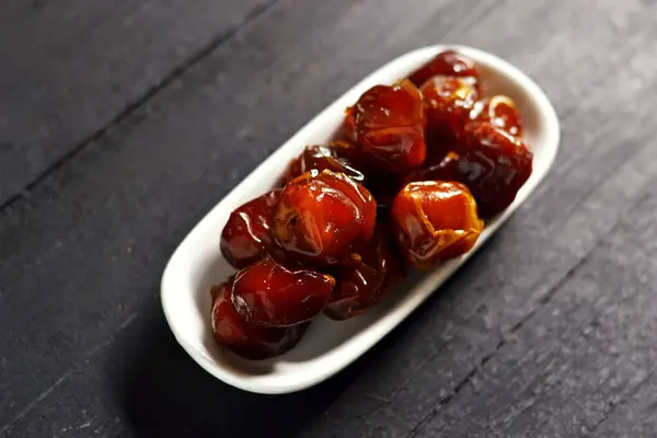
[{"label": "large round glossy red date atop the pile's lower-left half", "polygon": [[374,231],[377,203],[342,173],[308,172],[280,193],[274,235],[290,256],[320,265],[357,264]]}]

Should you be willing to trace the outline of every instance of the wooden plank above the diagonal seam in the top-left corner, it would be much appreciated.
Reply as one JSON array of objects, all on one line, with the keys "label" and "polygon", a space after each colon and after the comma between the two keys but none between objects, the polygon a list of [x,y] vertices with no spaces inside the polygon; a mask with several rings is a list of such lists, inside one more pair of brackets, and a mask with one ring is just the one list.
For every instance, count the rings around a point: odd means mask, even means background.
[{"label": "wooden plank above the diagonal seam in the top-left corner", "polygon": [[0,14],[0,206],[274,0],[10,1]]}]

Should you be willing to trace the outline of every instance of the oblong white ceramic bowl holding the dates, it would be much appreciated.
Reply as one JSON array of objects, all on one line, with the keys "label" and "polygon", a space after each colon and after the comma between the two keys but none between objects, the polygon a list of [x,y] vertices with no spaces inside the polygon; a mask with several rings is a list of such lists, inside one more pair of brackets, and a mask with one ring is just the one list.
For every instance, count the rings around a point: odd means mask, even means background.
[{"label": "oblong white ceramic bowl holding the dates", "polygon": [[[404,78],[438,53],[453,48],[474,59],[484,95],[506,94],[518,105],[525,139],[531,146],[533,173],[516,200],[482,232],[474,249],[429,274],[413,274],[380,306],[348,321],[314,321],[299,345],[276,358],[250,361],[219,347],[210,324],[210,285],[223,281],[234,269],[219,251],[219,235],[230,212],[262,195],[307,145],[332,138],[344,111],[376,84]],[[381,67],[336,100],[221,200],[173,253],[162,277],[162,307],[177,342],[208,372],[246,391],[280,394],[316,384],[335,374],[413,312],[476,251],[543,180],[558,148],[558,119],[541,89],[525,73],[491,54],[462,46],[433,46],[403,55]]]}]

